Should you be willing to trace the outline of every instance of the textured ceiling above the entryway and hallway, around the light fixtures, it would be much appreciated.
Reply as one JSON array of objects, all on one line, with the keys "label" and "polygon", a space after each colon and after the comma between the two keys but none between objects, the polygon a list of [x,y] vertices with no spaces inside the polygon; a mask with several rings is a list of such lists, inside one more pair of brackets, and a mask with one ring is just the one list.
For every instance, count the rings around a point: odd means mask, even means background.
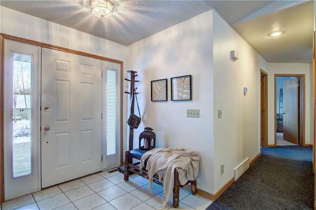
[{"label": "textured ceiling above the entryway and hallway, around the light fixtures", "polygon": [[[112,0],[113,17],[91,14],[90,0],[0,0],[0,5],[123,45],[214,9],[268,62],[312,62],[313,1]],[[284,30],[279,37],[267,36]]]}]

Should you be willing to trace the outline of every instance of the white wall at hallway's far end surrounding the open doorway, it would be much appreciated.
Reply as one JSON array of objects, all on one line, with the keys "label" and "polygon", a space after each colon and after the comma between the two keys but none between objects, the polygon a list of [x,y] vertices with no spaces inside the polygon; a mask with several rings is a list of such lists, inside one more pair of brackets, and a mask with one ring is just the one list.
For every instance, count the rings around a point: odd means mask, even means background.
[{"label": "white wall at hallway's far end surrounding the open doorway", "polygon": [[310,63],[268,63],[268,145],[275,144],[275,74],[305,75],[305,143],[313,144],[313,106],[311,106],[311,91],[313,69]]}]

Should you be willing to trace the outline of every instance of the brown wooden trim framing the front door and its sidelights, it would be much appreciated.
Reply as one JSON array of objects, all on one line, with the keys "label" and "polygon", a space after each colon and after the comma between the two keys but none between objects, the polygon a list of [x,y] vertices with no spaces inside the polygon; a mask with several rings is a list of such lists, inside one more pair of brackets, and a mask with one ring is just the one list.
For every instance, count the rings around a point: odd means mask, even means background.
[{"label": "brown wooden trim framing the front door and its sidelights", "polygon": [[[3,119],[3,100],[4,100],[4,40],[11,40],[11,41],[17,41],[25,44],[30,44],[38,47],[45,47],[49,49],[54,49],[62,52],[72,53],[76,55],[81,55],[89,58],[95,58],[99,60],[107,60],[111,62],[116,62],[120,64],[120,81],[123,81],[123,61],[121,60],[115,60],[115,59],[109,59],[102,56],[97,56],[89,53],[80,52],[77,50],[72,50],[64,47],[59,47],[56,45],[46,44],[30,39],[25,39],[17,36],[12,36],[4,33],[0,33],[0,50],[1,50],[1,56],[0,56],[0,202],[4,201],[4,119]],[[120,83],[120,116],[123,116],[123,83]],[[120,148],[123,148],[123,120],[121,119],[119,122],[119,128],[120,128],[120,139],[119,144]],[[40,151],[39,151],[40,152]],[[120,154],[120,165],[123,165],[123,152]]]}]

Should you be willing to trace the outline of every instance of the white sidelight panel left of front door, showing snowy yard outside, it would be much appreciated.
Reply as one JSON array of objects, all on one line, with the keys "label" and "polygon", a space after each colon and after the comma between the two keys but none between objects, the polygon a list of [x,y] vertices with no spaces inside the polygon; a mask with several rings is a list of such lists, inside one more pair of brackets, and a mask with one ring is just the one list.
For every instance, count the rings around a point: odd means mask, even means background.
[{"label": "white sidelight panel left of front door, showing snowy yard outside", "polygon": [[40,190],[40,47],[5,40],[4,199]]}]

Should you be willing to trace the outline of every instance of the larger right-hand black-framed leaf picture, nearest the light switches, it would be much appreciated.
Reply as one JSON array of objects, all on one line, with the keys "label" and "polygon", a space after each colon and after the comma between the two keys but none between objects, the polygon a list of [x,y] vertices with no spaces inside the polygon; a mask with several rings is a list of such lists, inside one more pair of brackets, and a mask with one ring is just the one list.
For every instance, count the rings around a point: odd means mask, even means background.
[{"label": "larger right-hand black-framed leaf picture, nearest the light switches", "polygon": [[192,100],[192,76],[185,75],[172,77],[171,80],[171,100],[187,101]]}]

